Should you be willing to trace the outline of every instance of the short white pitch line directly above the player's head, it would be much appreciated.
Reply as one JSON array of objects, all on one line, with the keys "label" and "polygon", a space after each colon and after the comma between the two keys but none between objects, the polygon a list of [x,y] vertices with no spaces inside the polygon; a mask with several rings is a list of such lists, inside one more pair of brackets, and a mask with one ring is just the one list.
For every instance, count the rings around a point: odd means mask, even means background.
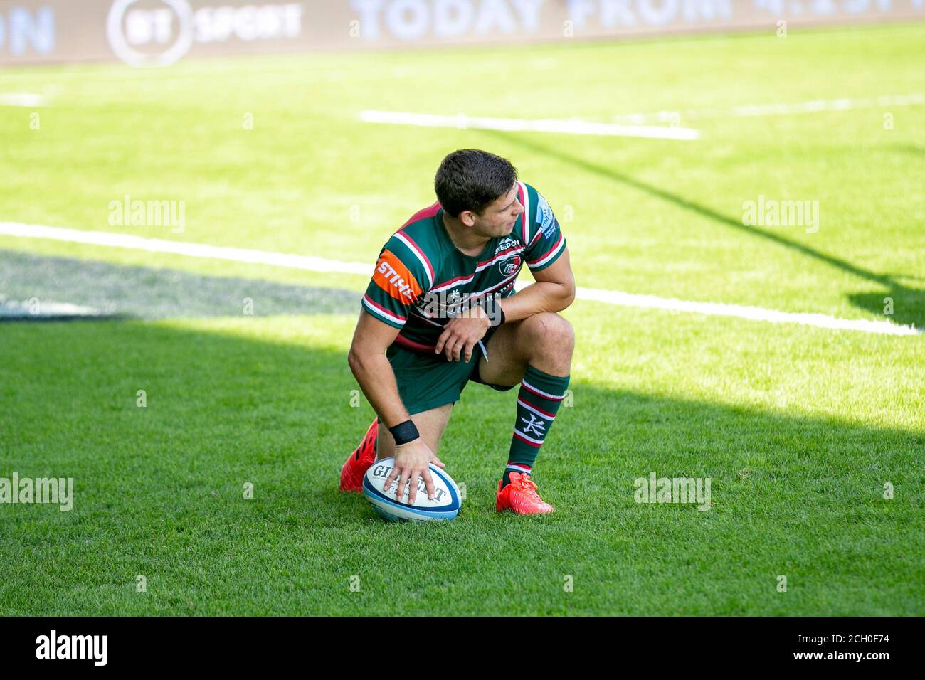
[{"label": "short white pitch line directly above the player's head", "polygon": [[435,114],[408,113],[404,111],[360,112],[364,123],[386,125],[413,125],[421,128],[456,128],[457,130],[502,130],[504,132],[558,132],[561,134],[584,134],[608,137],[647,137],[660,140],[696,140],[700,133],[690,128],[664,128],[653,125],[614,125],[612,123],[591,123],[586,120],[544,118],[494,118],[465,116],[437,116]]}]

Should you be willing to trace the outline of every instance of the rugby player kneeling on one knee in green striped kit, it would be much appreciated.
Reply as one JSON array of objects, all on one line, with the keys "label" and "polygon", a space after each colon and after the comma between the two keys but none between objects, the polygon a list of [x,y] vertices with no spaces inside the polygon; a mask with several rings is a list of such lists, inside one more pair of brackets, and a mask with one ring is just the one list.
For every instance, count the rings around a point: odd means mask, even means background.
[{"label": "rugby player kneeling on one knee in green striped kit", "polygon": [[[498,512],[552,513],[531,478],[569,386],[573,328],[558,313],[574,300],[569,252],[546,199],[510,161],[478,149],[447,155],[437,203],[386,242],[362,301],[348,363],[376,411],[340,472],[360,491],[376,460],[395,457],[397,498],[419,477],[428,497],[440,437],[469,381],[518,387]],[[514,291],[524,264],[536,282]],[[380,427],[384,424],[385,427]],[[499,461],[500,467],[500,461]]]}]

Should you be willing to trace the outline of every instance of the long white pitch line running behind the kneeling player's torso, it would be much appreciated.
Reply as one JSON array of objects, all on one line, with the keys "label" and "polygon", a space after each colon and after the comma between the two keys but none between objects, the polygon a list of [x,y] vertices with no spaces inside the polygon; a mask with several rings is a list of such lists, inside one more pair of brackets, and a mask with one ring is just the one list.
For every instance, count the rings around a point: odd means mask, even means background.
[{"label": "long white pitch line running behind the kneeling player's torso", "polygon": [[[188,257],[203,257],[232,262],[246,262],[257,265],[284,266],[316,272],[338,272],[357,274],[368,277],[372,274],[372,265],[361,262],[340,262],[325,257],[310,255],[292,255],[289,253],[272,253],[249,248],[228,248],[225,246],[187,243],[183,241],[163,241],[161,239],[144,239],[140,236],[111,233],[107,231],[83,231],[80,229],[62,229],[42,225],[22,224],[21,222],[0,222],[0,235],[16,236],[28,239],[49,239],[70,243],[87,243],[91,245],[128,248],[147,253],[173,253]],[[524,284],[528,285],[528,284]],[[517,286],[518,290],[523,285]],[[622,291],[602,291],[594,288],[578,288],[576,297],[597,303],[614,304],[623,307],[644,309],[662,309],[670,312],[702,314],[709,316],[734,316],[751,321],[765,321],[777,324],[800,324],[815,328],[833,330],[856,330],[863,333],[881,335],[908,336],[920,335],[922,331],[914,326],[900,326],[889,321],[870,319],[843,319],[824,314],[799,312],[780,312],[763,307],[750,307],[739,304],[697,303],[674,298],[661,298],[656,295],[639,295]]]}]

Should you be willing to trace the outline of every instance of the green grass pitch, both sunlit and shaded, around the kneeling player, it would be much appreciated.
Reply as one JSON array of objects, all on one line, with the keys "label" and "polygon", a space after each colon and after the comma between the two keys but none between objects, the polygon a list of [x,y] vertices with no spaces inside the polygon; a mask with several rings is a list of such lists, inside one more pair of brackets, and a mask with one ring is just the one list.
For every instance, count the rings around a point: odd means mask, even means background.
[{"label": "green grass pitch, both sunlit and shaded, around the kneeling player", "polygon": [[[923,39],[925,24],[6,70],[0,93],[48,105],[0,106],[0,221],[372,268],[433,201],[440,158],[475,146],[549,199],[579,286],[921,328],[925,105],[734,109],[920,96]],[[371,108],[680,111],[701,138],[359,122]],[[185,201],[185,229],[110,225],[125,194]],[[818,231],[743,225],[759,195],[819,201]],[[105,290],[140,310],[0,321],[0,477],[75,479],[70,512],[0,505],[0,614],[925,614],[922,336],[578,301],[573,404],[536,471],[557,513],[494,512],[514,397],[471,385],[439,451],[462,513],[388,524],[337,490],[372,418],[346,362],[365,282],[0,236],[0,301]],[[652,472],[709,477],[709,512],[636,503]]]}]

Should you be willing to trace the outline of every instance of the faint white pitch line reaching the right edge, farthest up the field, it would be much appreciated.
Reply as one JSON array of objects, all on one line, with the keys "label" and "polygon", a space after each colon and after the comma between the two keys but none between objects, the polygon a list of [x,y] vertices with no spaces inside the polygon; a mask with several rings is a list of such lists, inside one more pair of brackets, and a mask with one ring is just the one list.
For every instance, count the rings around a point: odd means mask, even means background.
[{"label": "faint white pitch line reaching the right edge, farthest up the field", "polygon": [[677,122],[681,118],[729,118],[753,116],[792,116],[796,114],[819,113],[820,111],[848,111],[858,108],[882,108],[892,106],[917,106],[925,104],[925,94],[884,94],[862,99],[813,99],[791,104],[746,104],[730,108],[702,108],[688,111],[656,111],[654,113],[632,113],[614,116],[620,123],[645,124],[649,122]]}]

